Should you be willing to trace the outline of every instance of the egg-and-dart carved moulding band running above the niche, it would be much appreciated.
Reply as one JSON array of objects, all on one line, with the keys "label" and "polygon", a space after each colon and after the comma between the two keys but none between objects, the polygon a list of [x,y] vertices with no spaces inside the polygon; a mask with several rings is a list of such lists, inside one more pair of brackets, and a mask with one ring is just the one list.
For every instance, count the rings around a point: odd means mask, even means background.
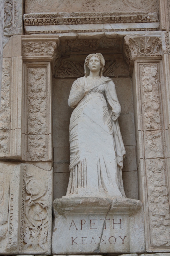
[{"label": "egg-and-dart carved moulding band running above the niche", "polygon": [[157,13],[60,12],[24,14],[24,26],[159,22]]}]

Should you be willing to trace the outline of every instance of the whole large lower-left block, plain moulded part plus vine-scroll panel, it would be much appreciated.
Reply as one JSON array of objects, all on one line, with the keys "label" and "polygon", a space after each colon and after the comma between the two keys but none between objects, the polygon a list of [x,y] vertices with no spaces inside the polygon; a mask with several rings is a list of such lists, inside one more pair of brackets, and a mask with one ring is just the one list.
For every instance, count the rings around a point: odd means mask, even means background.
[{"label": "whole large lower-left block, plain moulded part plus vine-scroll panel", "polygon": [[53,171],[0,162],[0,254],[51,254]]}]

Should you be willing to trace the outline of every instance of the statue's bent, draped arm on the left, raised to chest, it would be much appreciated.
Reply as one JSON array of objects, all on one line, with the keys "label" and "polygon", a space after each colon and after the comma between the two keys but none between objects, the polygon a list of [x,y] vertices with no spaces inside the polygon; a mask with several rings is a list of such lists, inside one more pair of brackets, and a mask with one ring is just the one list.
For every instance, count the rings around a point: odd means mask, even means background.
[{"label": "statue's bent, draped arm on the left, raised to chest", "polygon": [[83,86],[80,84],[78,80],[79,79],[74,81],[71,87],[71,91],[68,99],[68,105],[71,108],[75,108],[85,95],[85,90],[83,89]]}]

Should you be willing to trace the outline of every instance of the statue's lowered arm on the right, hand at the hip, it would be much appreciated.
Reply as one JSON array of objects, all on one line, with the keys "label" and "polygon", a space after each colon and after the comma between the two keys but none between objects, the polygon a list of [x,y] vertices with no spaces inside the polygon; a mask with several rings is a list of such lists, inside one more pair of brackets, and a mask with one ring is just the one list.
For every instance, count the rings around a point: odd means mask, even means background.
[{"label": "statue's lowered arm on the right, hand at the hip", "polygon": [[105,96],[112,111],[111,118],[113,121],[116,121],[117,118],[120,116],[121,106],[117,98],[115,84],[113,81],[109,81],[106,84]]}]

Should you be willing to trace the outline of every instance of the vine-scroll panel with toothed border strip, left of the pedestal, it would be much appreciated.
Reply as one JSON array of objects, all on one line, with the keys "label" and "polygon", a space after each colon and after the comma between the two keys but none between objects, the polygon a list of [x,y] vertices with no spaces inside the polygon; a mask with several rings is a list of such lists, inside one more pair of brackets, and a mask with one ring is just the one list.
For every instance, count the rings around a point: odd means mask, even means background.
[{"label": "vine-scroll panel with toothed border strip, left of the pedestal", "polygon": [[23,183],[25,205],[23,228],[20,233],[20,253],[50,254],[52,171],[44,171],[26,164],[26,180]]}]

